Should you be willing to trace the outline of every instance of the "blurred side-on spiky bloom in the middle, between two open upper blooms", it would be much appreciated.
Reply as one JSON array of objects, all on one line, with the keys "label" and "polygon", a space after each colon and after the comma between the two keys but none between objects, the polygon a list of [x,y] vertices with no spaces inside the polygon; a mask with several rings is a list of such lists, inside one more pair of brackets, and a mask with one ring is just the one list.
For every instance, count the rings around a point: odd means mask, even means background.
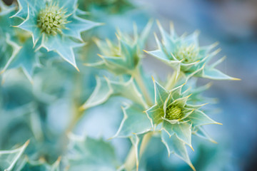
[{"label": "blurred side-on spiky bloom in the middle, between two open upper blooms", "polygon": [[138,36],[135,27],[133,38],[125,33],[118,32],[118,43],[113,43],[109,40],[107,40],[106,43],[96,40],[96,44],[102,53],[102,55],[99,55],[102,58],[102,61],[97,63],[86,63],[85,65],[106,69],[115,74],[131,74],[136,66],[138,66],[138,63],[143,56],[141,49],[143,49],[145,45],[151,25],[152,22],[148,22],[140,36]]}]

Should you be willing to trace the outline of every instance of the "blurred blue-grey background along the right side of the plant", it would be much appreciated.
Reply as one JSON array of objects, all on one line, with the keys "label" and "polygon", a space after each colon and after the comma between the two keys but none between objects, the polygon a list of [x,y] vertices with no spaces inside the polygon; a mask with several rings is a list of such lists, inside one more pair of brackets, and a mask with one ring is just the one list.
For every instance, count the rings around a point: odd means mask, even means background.
[{"label": "blurred blue-grey background along the right side of the plant", "polygon": [[[212,154],[200,157],[202,162],[209,162],[209,166],[198,168],[256,170],[257,1],[150,0],[146,4],[161,21],[173,21],[178,32],[191,33],[198,29],[201,31],[200,43],[218,41],[221,56],[227,56],[219,68],[228,75],[241,78],[241,81],[212,81],[208,95],[219,99],[216,106],[221,109],[213,117],[223,126],[206,127],[218,145],[211,145]],[[203,152],[204,147],[201,150]]]}]

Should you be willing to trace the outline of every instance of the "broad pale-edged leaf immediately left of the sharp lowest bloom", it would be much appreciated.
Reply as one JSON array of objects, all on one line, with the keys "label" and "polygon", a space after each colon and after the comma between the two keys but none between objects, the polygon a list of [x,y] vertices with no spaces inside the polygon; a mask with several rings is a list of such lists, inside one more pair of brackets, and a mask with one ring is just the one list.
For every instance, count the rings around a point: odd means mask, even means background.
[{"label": "broad pale-edged leaf immediately left of the sharp lowest bloom", "polygon": [[124,119],[121,121],[119,130],[114,138],[131,137],[132,135],[147,133],[151,130],[150,120],[146,113],[143,113],[143,108],[139,105],[127,105],[122,108]]}]

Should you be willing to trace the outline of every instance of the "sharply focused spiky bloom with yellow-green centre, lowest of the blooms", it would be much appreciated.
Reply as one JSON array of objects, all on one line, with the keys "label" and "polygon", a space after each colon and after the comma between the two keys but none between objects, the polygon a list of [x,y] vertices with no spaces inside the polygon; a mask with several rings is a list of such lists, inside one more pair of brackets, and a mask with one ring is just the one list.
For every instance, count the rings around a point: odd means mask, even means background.
[{"label": "sharply focused spiky bloom with yellow-green centre, lowest of the blooms", "polygon": [[182,86],[173,88],[168,92],[156,81],[155,104],[146,110],[154,130],[161,131],[161,139],[168,149],[168,154],[174,152],[178,157],[193,165],[188,157],[185,144],[191,145],[192,130],[201,130],[201,125],[219,124],[209,118],[199,108],[202,105],[191,105],[187,101],[191,95],[185,96]]}]

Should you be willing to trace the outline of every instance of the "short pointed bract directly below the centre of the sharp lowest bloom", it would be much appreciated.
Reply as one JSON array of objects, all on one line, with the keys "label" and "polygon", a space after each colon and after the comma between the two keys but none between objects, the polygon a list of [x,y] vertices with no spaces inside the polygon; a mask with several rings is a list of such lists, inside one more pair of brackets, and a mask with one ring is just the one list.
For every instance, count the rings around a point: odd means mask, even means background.
[{"label": "short pointed bract directly below the centre of the sharp lowest bloom", "polygon": [[192,127],[192,125],[189,123],[171,124],[171,123],[168,123],[167,121],[163,121],[163,129],[166,130],[166,132],[170,136],[173,134],[176,134],[176,136],[179,140],[185,142],[189,147],[192,148],[191,127]]}]

